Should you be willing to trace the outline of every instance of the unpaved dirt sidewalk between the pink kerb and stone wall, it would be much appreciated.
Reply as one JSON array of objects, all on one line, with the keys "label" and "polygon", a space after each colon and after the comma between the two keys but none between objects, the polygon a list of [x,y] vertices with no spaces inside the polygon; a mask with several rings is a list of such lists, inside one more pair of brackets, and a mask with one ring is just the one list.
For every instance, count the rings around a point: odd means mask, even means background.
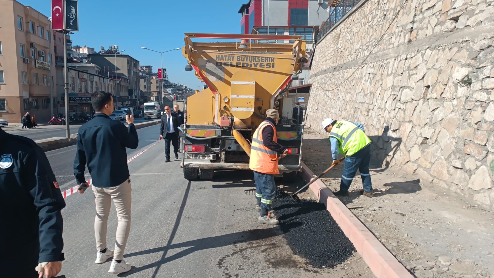
[{"label": "unpaved dirt sidewalk between the pink kerb and stone wall", "polygon": [[[307,129],[302,160],[316,174],[332,161],[328,137]],[[339,189],[342,165],[321,180]],[[418,278],[494,278],[494,214],[397,169],[371,167],[373,198],[353,180],[340,200]]]}]

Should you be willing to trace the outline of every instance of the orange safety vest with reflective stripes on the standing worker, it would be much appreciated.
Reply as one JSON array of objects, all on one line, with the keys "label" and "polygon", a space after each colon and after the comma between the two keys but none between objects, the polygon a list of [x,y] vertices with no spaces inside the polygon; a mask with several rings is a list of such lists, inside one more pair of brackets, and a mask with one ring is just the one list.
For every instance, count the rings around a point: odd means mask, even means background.
[{"label": "orange safety vest with reflective stripes on the standing worker", "polygon": [[262,131],[265,127],[272,126],[274,130],[275,142],[278,142],[276,138],[276,127],[268,121],[262,122],[254,132],[252,137],[252,145],[250,146],[250,160],[249,168],[252,171],[256,171],[263,174],[279,175],[278,169],[278,152],[267,148],[263,143]]}]

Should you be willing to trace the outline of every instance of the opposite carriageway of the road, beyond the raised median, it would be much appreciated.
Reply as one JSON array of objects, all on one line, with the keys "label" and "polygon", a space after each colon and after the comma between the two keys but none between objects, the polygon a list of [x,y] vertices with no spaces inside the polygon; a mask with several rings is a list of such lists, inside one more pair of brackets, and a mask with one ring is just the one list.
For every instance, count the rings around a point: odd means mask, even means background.
[{"label": "opposite carriageway of the road, beyond the raised median", "polygon": [[[154,120],[156,121],[156,119]],[[138,124],[149,121],[152,120],[151,119],[144,120],[143,118],[137,118],[134,120],[134,123]],[[124,122],[122,121],[122,123]],[[80,124],[70,125],[70,134],[76,134],[81,126],[82,125]],[[10,134],[25,136],[35,141],[52,138],[52,137],[65,137],[65,126],[62,125],[42,126],[42,127],[37,127],[36,129],[22,129],[21,127],[4,127],[3,130]]]}]

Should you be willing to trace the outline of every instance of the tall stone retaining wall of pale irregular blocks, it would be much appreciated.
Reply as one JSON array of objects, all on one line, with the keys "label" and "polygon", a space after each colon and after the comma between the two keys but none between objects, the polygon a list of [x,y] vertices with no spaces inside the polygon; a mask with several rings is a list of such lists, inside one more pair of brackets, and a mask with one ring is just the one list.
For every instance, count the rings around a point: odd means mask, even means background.
[{"label": "tall stone retaining wall of pale irregular blocks", "polygon": [[494,0],[354,9],[316,46],[306,123],[363,123],[374,164],[494,209]]}]

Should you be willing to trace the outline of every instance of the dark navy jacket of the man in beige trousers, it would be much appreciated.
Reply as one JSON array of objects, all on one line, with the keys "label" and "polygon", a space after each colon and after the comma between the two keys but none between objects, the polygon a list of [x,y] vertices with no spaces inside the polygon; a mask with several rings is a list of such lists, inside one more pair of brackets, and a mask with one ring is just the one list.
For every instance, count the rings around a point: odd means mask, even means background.
[{"label": "dark navy jacket of the man in beige trousers", "polygon": [[91,175],[92,185],[112,187],[122,184],[130,176],[127,167],[127,148],[136,149],[139,144],[133,124],[128,130],[120,121],[103,113],[79,128],[77,152],[74,159],[74,175],[80,185],[85,182],[84,170]]}]

